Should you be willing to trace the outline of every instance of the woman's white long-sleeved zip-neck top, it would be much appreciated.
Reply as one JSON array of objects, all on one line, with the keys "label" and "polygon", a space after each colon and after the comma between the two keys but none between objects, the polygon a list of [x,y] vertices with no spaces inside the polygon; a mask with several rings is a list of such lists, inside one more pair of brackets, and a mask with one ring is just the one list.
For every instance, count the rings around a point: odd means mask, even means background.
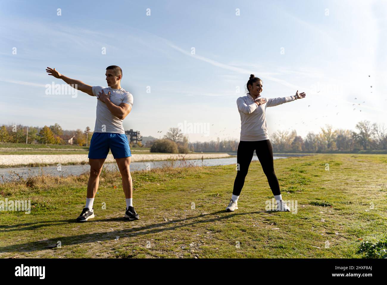
[{"label": "woman's white long-sleeved zip-neck top", "polygon": [[241,141],[255,142],[259,140],[268,140],[269,133],[266,124],[266,108],[296,100],[296,96],[278,98],[259,96],[257,98],[265,98],[266,103],[257,106],[250,96],[250,93],[247,93],[246,96],[239,97],[236,100],[236,105],[238,105],[238,111],[241,117]]}]

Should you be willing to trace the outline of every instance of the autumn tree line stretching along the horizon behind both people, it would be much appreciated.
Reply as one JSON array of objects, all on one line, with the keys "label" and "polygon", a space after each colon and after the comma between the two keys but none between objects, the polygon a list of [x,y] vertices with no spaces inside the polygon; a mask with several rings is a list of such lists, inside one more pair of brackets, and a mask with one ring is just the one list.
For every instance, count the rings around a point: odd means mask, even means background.
[{"label": "autumn tree line stretching along the horizon behind both people", "polygon": [[[387,130],[384,124],[360,121],[356,130],[334,130],[331,125],[320,128],[319,133],[309,132],[305,138],[297,135],[296,130],[278,130],[270,135],[274,152],[358,152],[359,150],[386,150]],[[28,127],[28,143],[90,145],[92,132],[87,127],[84,131],[62,130],[59,124],[51,126]],[[0,127],[0,142],[26,143],[27,126],[9,124]],[[211,140],[210,142],[189,142],[179,128],[170,128],[162,140],[146,143],[151,152],[236,152],[239,140]],[[136,145],[141,147],[141,143]]]}]

